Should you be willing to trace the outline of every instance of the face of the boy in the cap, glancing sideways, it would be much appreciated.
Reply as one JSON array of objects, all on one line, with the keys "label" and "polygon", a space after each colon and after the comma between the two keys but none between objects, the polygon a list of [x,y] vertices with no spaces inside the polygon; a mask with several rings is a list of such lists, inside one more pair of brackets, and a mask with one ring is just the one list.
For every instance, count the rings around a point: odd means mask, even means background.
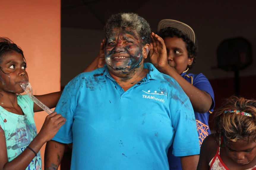
[{"label": "face of the boy in the cap, glancing sideways", "polygon": [[178,74],[181,74],[191,65],[194,58],[188,58],[186,43],[182,38],[165,37],[165,46],[167,50],[168,64],[175,69]]}]

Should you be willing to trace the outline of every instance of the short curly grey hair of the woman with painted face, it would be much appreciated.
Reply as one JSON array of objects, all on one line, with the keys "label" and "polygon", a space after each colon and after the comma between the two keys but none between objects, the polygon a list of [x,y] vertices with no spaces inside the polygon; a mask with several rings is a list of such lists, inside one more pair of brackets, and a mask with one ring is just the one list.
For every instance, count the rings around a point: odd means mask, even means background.
[{"label": "short curly grey hair of the woman with painted face", "polygon": [[141,44],[145,45],[151,42],[151,28],[149,23],[138,14],[118,13],[113,14],[104,26],[105,38],[108,40],[114,28],[129,27],[138,33]]}]

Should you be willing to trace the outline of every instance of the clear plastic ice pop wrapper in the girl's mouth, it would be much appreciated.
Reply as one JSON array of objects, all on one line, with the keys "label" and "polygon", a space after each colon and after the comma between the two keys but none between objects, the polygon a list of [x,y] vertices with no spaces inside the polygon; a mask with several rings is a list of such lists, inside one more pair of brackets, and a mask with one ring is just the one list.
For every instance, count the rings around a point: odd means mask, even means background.
[{"label": "clear plastic ice pop wrapper in the girl's mouth", "polygon": [[27,83],[20,83],[20,86],[23,88],[23,90],[27,93],[27,95],[29,96],[29,98],[31,98],[34,103],[36,103],[39,107],[41,107],[44,111],[46,111],[48,114],[51,114],[53,111],[48,108],[47,106],[45,106],[44,103],[42,103],[41,101],[39,101],[32,93],[32,88],[29,82]]}]

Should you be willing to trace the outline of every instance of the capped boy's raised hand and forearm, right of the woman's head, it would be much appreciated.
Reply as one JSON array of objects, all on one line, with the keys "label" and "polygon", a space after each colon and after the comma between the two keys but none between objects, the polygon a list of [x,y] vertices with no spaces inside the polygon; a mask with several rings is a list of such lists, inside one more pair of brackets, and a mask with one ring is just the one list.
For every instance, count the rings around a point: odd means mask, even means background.
[{"label": "capped boy's raised hand and forearm, right of the woman's head", "polygon": [[179,75],[167,61],[167,51],[164,40],[151,34],[152,43],[149,52],[151,63],[162,73],[173,77],[189,97],[193,108],[199,113],[206,113],[212,105],[212,98],[206,91],[200,90]]}]

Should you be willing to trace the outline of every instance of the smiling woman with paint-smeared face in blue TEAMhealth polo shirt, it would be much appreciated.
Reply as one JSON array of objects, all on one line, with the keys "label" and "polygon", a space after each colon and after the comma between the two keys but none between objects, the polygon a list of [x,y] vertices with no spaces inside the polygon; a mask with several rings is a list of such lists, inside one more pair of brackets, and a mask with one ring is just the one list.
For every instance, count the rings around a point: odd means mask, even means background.
[{"label": "smiling woman with paint-smeared face in blue TEAMhealth polo shirt", "polygon": [[148,22],[134,13],[114,14],[104,31],[106,64],[64,88],[55,111],[67,122],[46,145],[45,168],[58,168],[68,143],[72,170],[168,170],[172,144],[184,169],[196,167],[200,148],[189,98],[172,77],[143,63]]}]

